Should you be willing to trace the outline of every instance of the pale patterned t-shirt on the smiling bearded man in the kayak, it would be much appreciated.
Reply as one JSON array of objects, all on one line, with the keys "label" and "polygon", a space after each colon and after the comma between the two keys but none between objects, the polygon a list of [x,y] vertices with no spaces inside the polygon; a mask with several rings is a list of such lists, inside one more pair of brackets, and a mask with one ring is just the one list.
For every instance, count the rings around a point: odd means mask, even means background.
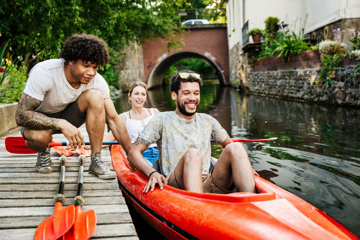
[{"label": "pale patterned t-shirt on the smiling bearded man in the kayak", "polygon": [[191,120],[187,120],[176,112],[161,112],[139,134],[140,138],[150,143],[157,142],[159,165],[165,176],[190,148],[200,151],[202,173],[208,173],[211,160],[210,139],[223,142],[226,138],[225,129],[210,115],[195,113],[193,116]]}]

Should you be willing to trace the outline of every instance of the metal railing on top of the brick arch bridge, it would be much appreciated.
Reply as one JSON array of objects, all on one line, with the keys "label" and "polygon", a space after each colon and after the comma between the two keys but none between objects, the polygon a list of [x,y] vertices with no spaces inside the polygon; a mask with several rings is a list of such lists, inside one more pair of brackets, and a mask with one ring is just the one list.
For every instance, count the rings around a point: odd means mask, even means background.
[{"label": "metal railing on top of the brick arch bridge", "polygon": [[190,19],[206,19],[210,23],[226,23],[226,8],[177,9],[180,23]]}]

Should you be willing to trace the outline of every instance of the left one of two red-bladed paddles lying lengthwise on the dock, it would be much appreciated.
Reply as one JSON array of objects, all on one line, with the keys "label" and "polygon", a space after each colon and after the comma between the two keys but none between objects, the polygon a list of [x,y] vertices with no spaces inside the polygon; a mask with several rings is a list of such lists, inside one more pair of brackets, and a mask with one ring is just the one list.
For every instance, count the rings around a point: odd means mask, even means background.
[{"label": "left one of two red-bladed paddles lying lengthwise on the dock", "polygon": [[59,161],[61,162],[61,173],[59,191],[54,197],[54,213],[37,227],[34,236],[35,240],[58,239],[71,229],[75,221],[74,205],[63,207],[65,203],[63,192],[66,156],[62,154]]}]

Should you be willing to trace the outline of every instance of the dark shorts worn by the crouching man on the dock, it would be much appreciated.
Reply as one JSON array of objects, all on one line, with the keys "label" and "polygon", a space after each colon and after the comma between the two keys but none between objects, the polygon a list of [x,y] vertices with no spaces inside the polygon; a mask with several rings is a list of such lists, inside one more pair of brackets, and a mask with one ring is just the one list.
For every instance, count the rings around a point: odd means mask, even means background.
[{"label": "dark shorts worn by the crouching man on the dock", "polygon": [[[80,127],[81,125],[83,125],[86,120],[86,115],[83,114],[79,109],[78,100],[69,104],[61,112],[57,112],[54,114],[46,114],[46,113],[42,113],[42,114],[46,115],[49,118],[67,120],[68,122],[70,122],[71,124],[73,124],[76,127]],[[24,126],[22,126],[20,129],[21,135],[24,138],[25,138],[25,136],[24,136],[25,129],[26,129],[26,127],[24,127]],[[52,129],[51,134],[59,134],[59,133],[62,133],[61,130]]]}]

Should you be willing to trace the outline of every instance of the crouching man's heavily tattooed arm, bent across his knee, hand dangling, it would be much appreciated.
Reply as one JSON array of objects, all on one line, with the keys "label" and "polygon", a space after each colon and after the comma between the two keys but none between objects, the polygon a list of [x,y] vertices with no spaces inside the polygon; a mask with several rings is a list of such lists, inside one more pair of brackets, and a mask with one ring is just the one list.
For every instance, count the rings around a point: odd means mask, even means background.
[{"label": "crouching man's heavily tattooed arm, bent across his knee, hand dangling", "polygon": [[85,140],[77,127],[67,120],[49,118],[44,114],[35,112],[41,103],[42,101],[23,93],[15,113],[16,124],[35,130],[60,129],[69,140],[72,149],[75,149],[76,145],[82,147]]}]

